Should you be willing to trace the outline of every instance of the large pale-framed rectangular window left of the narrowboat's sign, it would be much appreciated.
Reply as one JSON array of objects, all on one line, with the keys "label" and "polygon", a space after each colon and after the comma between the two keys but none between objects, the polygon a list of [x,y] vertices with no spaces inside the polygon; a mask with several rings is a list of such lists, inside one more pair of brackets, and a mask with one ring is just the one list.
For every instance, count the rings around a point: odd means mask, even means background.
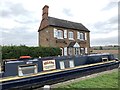
[{"label": "large pale-framed rectangular window left of the narrowboat's sign", "polygon": [[37,73],[37,65],[24,65],[18,67],[19,76],[25,76],[34,73]]}]

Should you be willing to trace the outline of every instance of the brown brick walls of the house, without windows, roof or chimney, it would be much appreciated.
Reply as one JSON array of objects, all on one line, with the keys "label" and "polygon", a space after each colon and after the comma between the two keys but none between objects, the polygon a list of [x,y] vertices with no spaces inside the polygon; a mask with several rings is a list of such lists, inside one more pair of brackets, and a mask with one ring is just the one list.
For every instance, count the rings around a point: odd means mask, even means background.
[{"label": "brown brick walls of the house, without windows, roof or chimney", "polygon": [[[64,28],[56,28],[60,30],[65,30]],[[69,40],[68,39],[68,32],[72,31],[74,33],[74,40]],[[82,33],[85,33],[84,31],[81,31]],[[44,47],[67,47],[70,42],[76,41],[79,42],[80,47],[87,47],[88,52],[90,48],[90,37],[89,37],[89,32],[87,33],[87,40],[85,41],[80,41],[77,39],[77,31],[76,30],[71,30],[67,29],[67,38],[65,39],[57,39],[54,38],[54,27],[47,27],[41,31],[39,31],[39,45],[44,46]]]}]

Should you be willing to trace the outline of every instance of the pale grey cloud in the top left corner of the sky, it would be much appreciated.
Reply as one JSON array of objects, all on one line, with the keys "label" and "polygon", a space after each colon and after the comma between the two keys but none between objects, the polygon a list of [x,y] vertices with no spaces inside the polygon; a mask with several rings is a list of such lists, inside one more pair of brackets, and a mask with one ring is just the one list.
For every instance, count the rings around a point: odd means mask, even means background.
[{"label": "pale grey cloud in the top left corner of the sky", "polygon": [[[5,7],[5,8],[4,8]],[[17,3],[13,4],[12,2],[4,2],[3,8],[0,10],[1,17],[13,17],[20,15],[30,15],[30,12],[27,11],[22,4]]]}]

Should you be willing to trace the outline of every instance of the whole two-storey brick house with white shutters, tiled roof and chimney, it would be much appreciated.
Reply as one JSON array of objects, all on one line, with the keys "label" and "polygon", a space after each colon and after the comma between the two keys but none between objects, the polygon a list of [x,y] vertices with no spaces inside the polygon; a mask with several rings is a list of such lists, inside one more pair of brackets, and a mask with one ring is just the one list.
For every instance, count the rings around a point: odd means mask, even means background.
[{"label": "whole two-storey brick house with white shutters, tiled roof and chimney", "polygon": [[90,31],[81,23],[49,17],[48,9],[47,5],[43,7],[39,46],[60,47],[62,55],[89,53]]}]

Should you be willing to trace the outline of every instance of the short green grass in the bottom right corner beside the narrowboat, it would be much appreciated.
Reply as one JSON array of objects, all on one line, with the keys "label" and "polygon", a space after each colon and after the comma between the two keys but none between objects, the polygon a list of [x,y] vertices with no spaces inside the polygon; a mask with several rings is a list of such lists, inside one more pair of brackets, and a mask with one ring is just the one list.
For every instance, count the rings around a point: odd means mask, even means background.
[{"label": "short green grass in the bottom right corner beside the narrowboat", "polygon": [[68,85],[61,85],[57,88],[57,90],[75,90],[75,88],[118,88],[118,71],[81,80]]}]

